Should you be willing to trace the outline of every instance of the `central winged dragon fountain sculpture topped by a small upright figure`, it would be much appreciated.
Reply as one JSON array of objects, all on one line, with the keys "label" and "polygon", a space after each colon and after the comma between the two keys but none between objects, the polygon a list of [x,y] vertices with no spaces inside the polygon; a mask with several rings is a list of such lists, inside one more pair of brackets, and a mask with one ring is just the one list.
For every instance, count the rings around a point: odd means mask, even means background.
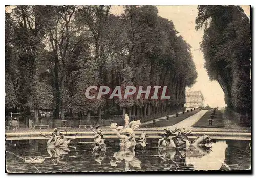
[{"label": "central winged dragon fountain sculpture topped by a small upright figure", "polygon": [[134,131],[141,125],[140,120],[129,122],[128,115],[125,115],[125,126],[118,126],[117,123],[112,123],[110,129],[120,139],[120,147],[132,148],[136,146]]}]

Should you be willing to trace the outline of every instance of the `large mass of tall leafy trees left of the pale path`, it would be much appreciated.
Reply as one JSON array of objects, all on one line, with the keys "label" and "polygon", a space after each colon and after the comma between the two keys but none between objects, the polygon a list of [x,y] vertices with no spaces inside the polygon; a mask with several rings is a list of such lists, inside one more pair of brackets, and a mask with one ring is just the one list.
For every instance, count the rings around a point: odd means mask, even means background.
[{"label": "large mass of tall leafy trees left of the pale path", "polygon": [[[18,6],[5,28],[6,110],[150,115],[181,107],[197,78],[189,44],[155,6]],[[102,85],[167,86],[171,98],[86,98]]]}]

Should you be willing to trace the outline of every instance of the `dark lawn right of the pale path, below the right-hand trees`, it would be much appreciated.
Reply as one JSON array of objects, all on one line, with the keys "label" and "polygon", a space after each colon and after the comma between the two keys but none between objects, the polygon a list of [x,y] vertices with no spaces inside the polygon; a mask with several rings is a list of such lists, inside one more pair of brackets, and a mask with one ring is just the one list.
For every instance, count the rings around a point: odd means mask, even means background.
[{"label": "dark lawn right of the pale path, below the right-hand trees", "polygon": [[[199,128],[208,128],[209,127],[209,119],[211,115],[212,110],[207,111],[203,117],[195,123],[193,126],[194,127],[199,127]],[[212,121],[212,128],[221,128],[223,127],[223,112],[220,110],[216,110],[214,120]]]}]

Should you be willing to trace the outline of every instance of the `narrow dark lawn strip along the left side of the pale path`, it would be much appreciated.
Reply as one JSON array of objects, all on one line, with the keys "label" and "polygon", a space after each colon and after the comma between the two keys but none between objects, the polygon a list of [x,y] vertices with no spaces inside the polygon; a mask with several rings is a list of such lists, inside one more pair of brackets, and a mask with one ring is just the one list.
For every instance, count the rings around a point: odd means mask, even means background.
[{"label": "narrow dark lawn strip along the left side of the pale path", "polygon": [[199,112],[199,110],[193,110],[192,112],[190,111],[189,113],[185,112],[185,114],[179,114],[178,117],[174,116],[174,117],[170,117],[169,120],[160,120],[158,122],[156,122],[155,125],[153,125],[153,123],[149,123],[149,124],[146,124],[146,125],[143,125],[141,126],[141,128],[151,128],[151,127],[154,127],[154,126],[172,126],[176,123],[179,123],[180,121],[190,117],[191,115],[194,115],[196,114],[197,112]]}]

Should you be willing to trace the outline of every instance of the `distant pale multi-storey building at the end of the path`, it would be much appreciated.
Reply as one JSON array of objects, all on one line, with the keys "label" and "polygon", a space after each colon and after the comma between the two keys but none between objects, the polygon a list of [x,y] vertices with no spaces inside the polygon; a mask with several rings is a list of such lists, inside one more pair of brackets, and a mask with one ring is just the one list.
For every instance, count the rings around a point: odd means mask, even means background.
[{"label": "distant pale multi-storey building at the end of the path", "polygon": [[204,96],[201,91],[186,92],[186,107],[204,107]]}]

